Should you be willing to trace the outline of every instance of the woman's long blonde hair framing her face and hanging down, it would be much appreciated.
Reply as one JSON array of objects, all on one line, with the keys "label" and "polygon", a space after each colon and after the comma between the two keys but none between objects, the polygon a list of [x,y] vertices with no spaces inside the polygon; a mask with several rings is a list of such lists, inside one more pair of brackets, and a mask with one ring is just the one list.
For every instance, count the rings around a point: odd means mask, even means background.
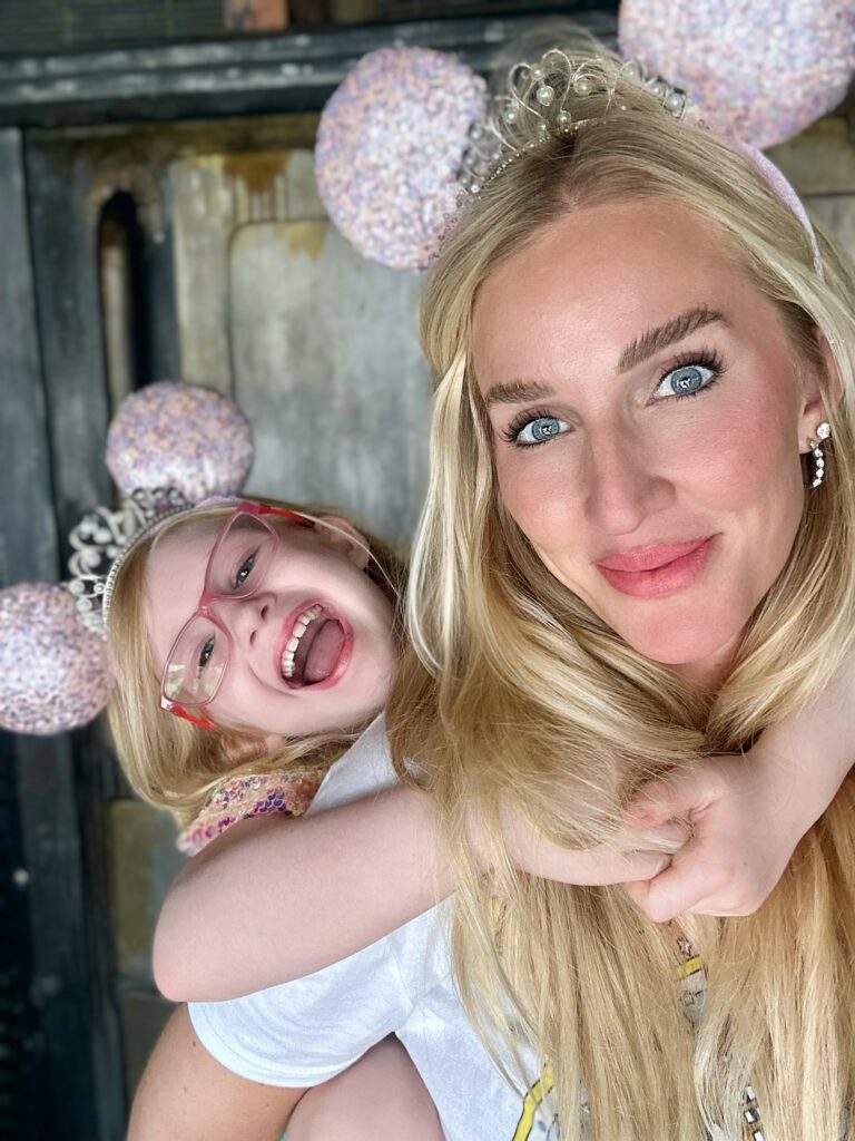
[{"label": "woman's long blonde hair framing her face and hanging down", "polygon": [[[648,922],[620,888],[547,883],[503,855],[503,798],[559,843],[608,840],[641,783],[739,753],[812,702],[853,647],[852,269],[817,228],[820,277],[805,228],[742,154],[675,120],[608,52],[580,50],[594,91],[613,90],[609,105],[568,94],[584,126],[538,140],[487,183],[424,296],[439,382],[412,559],[413,648],[388,706],[393,755],[401,772],[405,758],[418,760],[458,869],[454,945],[467,1008],[494,1041],[496,1029],[506,1044],[527,1031],[549,1067],[565,1141],[588,1130],[597,1141],[699,1141],[705,1124],[739,1141],[749,1085],[766,1141],[831,1141],[850,1135],[855,1091],[852,780],[758,914],[686,919],[708,970],[695,1037],[673,930]],[[806,495],[787,566],[712,697],[675,686],[544,567],[500,501],[472,373],[473,307],[496,268],[555,220],[630,200],[674,203],[716,228],[723,253],[775,306],[799,366],[820,378],[832,426],[828,478]],[[469,850],[473,806],[497,858],[489,876]]]}]

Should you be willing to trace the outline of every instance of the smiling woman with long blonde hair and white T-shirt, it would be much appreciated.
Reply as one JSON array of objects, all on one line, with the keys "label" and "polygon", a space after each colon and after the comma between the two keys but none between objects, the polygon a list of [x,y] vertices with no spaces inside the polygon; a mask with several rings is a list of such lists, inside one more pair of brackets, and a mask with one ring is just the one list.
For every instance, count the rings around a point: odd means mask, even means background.
[{"label": "smiling woman with long blonde hair and white T-shirt", "polygon": [[[564,1138],[699,1138],[706,1120],[738,1139],[759,1130],[750,1083],[767,1139],[832,1138],[852,1101],[848,786],[759,915],[720,928],[658,929],[620,890],[545,884],[500,859],[508,801],[551,839],[608,839],[645,779],[738,754],[816,697],[852,642],[849,270],[821,236],[817,275],[801,222],[740,153],[673,119],[614,60],[577,64],[544,86],[578,130],[556,118],[530,136],[426,294],[442,380],[392,742],[437,798],[459,871],[461,986],[502,1065],[526,1070],[516,1136],[536,1135],[553,1093]],[[799,455],[825,421],[833,460],[807,495]],[[486,877],[472,804],[499,857]],[[825,804],[803,807],[813,823]],[[710,972],[694,1044],[674,982],[684,934]],[[334,1071],[388,1018],[402,1036],[441,1027],[445,964],[431,960],[413,1005],[407,984],[425,971],[407,940],[274,996],[197,1008],[196,1029],[221,1060],[231,1035],[233,1068],[276,1084]],[[381,985],[361,1006],[366,976]],[[319,1034],[302,1069],[283,1063],[321,1009],[340,1036]],[[434,1042],[423,1074],[447,1089],[465,1057],[453,1093],[474,1110],[455,1135],[498,1136],[478,1110],[500,1091],[473,1086],[483,1070],[455,1033],[461,1053]],[[552,1110],[544,1124],[554,1135]]]}]

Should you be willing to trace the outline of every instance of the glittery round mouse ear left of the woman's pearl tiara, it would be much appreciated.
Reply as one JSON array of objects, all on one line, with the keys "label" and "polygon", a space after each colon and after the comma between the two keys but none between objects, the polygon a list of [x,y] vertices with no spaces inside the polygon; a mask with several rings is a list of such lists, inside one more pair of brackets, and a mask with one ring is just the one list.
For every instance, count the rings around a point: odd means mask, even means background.
[{"label": "glittery round mouse ear left of the woman's pearl tiara", "polygon": [[487,84],[454,56],[381,48],[359,60],[320,116],[315,173],[331,220],[364,257],[393,269],[435,258],[486,108]]}]

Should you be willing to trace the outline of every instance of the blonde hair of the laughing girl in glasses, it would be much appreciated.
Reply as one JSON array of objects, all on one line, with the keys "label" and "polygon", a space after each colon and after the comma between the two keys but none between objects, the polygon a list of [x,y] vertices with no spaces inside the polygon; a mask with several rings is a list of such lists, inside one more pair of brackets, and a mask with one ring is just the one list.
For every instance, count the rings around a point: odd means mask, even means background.
[{"label": "blonde hair of the laughing girl in glasses", "polygon": [[[267,502],[296,511],[318,526],[332,526],[325,524],[321,516],[341,513],[317,507]],[[271,753],[261,735],[226,727],[215,733],[199,729],[160,709],[161,679],[155,671],[146,629],[148,556],[168,535],[180,534],[186,526],[199,520],[225,521],[231,511],[233,505],[189,511],[168,520],[142,539],[116,576],[109,609],[109,648],[120,680],[108,715],[119,760],[133,791],[149,803],[170,809],[181,826],[198,815],[227,778],[298,766],[327,768],[376,713],[372,711],[360,725],[343,726],[340,733],[283,741]],[[361,534],[370,553],[366,574],[396,604],[404,586],[404,559],[380,539],[365,531]],[[399,625],[396,618],[393,637],[398,644]]]}]

